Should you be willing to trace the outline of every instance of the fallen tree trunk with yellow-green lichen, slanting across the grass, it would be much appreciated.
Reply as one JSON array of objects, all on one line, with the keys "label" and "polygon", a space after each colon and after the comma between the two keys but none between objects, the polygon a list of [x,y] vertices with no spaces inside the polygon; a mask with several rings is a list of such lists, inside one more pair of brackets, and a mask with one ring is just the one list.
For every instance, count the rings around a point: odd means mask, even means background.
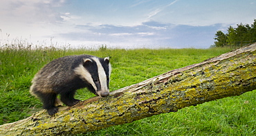
[{"label": "fallen tree trunk with yellow-green lichen, slanting across the grass", "polygon": [[96,131],[160,113],[256,89],[256,43],[175,69],[138,84],[62,106],[51,117],[45,110],[3,124],[0,135],[68,135]]}]

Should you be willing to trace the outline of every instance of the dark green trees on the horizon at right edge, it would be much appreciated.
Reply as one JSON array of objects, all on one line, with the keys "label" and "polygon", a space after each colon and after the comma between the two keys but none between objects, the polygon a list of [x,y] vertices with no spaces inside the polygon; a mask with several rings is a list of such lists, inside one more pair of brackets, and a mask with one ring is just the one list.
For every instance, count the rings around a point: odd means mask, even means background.
[{"label": "dark green trees on the horizon at right edge", "polygon": [[256,19],[251,25],[237,24],[237,27],[228,27],[228,33],[224,34],[221,30],[214,36],[212,47],[240,47],[256,42]]}]

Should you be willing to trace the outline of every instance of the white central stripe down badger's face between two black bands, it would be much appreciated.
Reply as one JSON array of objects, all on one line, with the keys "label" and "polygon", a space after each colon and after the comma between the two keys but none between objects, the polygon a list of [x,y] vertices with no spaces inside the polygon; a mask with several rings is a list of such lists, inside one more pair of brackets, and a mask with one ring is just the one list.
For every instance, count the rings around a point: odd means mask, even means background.
[{"label": "white central stripe down badger's face between two black bands", "polygon": [[[100,60],[99,58],[95,58],[93,57],[92,58],[95,63],[97,64],[97,67],[98,67],[98,75],[99,75],[99,80],[100,80],[100,87],[101,87],[101,90],[100,91],[108,91],[108,88],[107,88],[107,75],[104,71],[104,68],[102,67],[102,64],[100,63]],[[97,89],[96,89],[96,92],[97,92]]]}]

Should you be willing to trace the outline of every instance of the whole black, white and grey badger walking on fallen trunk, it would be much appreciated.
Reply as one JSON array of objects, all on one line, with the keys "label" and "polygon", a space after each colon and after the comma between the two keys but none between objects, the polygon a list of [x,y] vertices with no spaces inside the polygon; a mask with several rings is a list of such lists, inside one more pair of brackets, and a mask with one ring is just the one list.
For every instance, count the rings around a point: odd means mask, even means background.
[{"label": "whole black, white and grey badger walking on fallen trunk", "polygon": [[64,56],[45,65],[32,80],[30,93],[39,98],[49,115],[58,112],[57,95],[67,106],[80,102],[75,91],[86,87],[95,95],[109,95],[111,65],[109,57],[90,55]]}]

